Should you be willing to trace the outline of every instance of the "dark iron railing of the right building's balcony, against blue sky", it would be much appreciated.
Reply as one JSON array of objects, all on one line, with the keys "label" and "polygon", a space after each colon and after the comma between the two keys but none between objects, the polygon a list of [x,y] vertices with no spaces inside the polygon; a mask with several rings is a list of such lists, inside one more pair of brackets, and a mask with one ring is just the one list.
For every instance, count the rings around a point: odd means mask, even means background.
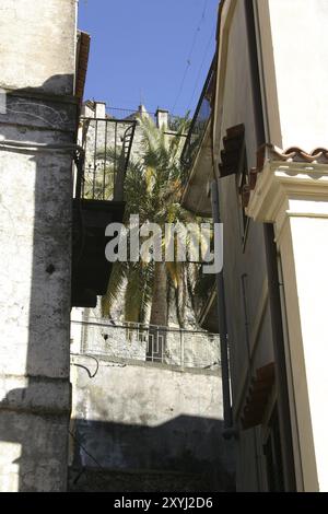
[{"label": "dark iron railing of the right building's balcony, against blue sky", "polygon": [[214,89],[214,59],[210,67],[206,83],[203,85],[194,118],[181,152],[181,164],[187,174],[191,170],[198,151],[201,147],[208,124],[211,119],[213,109],[213,89]]}]

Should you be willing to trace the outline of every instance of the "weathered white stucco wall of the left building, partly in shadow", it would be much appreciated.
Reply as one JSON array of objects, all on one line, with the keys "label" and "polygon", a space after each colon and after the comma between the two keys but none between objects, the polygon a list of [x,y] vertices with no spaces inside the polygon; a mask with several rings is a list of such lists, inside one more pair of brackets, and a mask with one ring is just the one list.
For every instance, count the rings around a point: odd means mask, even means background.
[{"label": "weathered white stucco wall of the left building, partly in shadow", "polygon": [[0,54],[0,491],[62,491],[72,152],[33,144],[74,140],[75,1],[1,1]]}]

